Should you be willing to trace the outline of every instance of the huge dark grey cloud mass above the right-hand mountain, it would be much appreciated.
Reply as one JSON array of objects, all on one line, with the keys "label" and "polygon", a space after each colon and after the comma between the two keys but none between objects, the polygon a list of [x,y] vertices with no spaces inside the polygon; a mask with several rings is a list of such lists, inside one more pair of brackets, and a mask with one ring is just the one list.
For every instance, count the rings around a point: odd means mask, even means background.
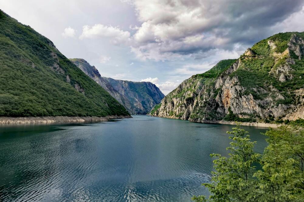
[{"label": "huge dark grey cloud mass above the right-hand mountain", "polygon": [[[304,3],[302,0],[127,2],[132,2],[141,22],[132,36],[131,49],[143,60],[178,59],[177,56],[201,58],[201,54],[212,49],[233,51],[236,43],[248,47],[280,32],[274,25],[301,11]],[[300,13],[297,19],[303,17]],[[301,20],[288,22],[281,27],[282,31],[299,26]]]}]

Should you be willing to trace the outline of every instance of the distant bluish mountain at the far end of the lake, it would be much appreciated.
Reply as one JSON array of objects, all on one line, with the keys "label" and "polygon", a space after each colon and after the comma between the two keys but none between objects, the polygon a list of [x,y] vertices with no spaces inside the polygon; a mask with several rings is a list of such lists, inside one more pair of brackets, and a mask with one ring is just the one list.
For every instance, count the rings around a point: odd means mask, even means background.
[{"label": "distant bluish mountain at the far end of the lake", "polygon": [[147,114],[164,98],[160,89],[151,82],[123,81],[102,77],[95,66],[91,66],[84,59],[70,60],[125,106],[131,114]]}]

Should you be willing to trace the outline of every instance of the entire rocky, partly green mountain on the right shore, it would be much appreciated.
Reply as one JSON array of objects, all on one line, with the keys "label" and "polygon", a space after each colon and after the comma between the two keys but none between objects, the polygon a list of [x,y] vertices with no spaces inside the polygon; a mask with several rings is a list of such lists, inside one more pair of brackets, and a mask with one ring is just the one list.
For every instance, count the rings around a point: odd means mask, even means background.
[{"label": "entire rocky, partly green mountain on the right shore", "polygon": [[288,123],[304,118],[304,32],[273,35],[165,96],[153,116],[193,122]]}]

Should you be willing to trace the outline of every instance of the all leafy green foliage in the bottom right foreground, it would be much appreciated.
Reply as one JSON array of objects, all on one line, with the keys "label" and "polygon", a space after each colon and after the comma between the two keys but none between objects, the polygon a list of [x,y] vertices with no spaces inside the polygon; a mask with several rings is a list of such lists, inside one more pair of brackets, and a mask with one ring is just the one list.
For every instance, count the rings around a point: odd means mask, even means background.
[{"label": "all leafy green foliage in the bottom right foreground", "polygon": [[[239,125],[228,132],[229,157],[211,154],[215,171],[204,183],[209,201],[302,201],[304,198],[304,130],[281,127],[268,130],[269,145],[263,154],[254,152],[250,136]],[[261,169],[257,169],[260,167]],[[196,202],[207,201],[194,196]]]}]

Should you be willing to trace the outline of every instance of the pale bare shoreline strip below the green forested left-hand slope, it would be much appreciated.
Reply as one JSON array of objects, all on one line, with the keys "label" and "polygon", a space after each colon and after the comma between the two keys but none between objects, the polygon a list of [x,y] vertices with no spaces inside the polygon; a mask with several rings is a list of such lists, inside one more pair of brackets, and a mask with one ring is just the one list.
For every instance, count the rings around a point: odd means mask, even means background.
[{"label": "pale bare shoreline strip below the green forested left-hand slope", "polygon": [[125,119],[132,116],[29,116],[29,117],[6,117],[0,116],[0,124],[22,123],[68,123],[68,122],[99,122],[111,119]]}]

